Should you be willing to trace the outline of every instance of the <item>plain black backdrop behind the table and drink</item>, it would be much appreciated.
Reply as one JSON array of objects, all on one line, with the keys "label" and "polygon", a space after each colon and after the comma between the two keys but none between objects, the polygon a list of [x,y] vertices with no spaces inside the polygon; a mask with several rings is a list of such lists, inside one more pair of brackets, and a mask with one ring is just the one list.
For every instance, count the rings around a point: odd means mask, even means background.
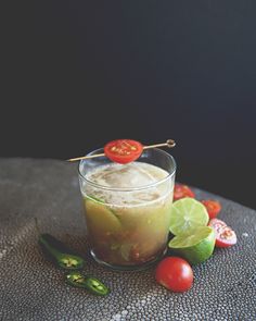
[{"label": "plain black backdrop behind the table and drink", "polygon": [[12,4],[1,156],[177,140],[177,178],[256,208],[256,2]]}]

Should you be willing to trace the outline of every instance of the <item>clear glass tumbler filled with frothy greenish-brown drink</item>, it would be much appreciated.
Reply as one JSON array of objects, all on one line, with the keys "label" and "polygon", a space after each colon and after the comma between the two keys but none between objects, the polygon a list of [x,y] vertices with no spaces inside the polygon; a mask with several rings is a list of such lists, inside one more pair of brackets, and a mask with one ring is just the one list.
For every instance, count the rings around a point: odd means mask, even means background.
[{"label": "clear glass tumbler filled with frothy greenish-brown drink", "polygon": [[87,233],[97,262],[140,270],[165,254],[175,173],[175,159],[157,148],[125,165],[106,157],[80,161]]}]

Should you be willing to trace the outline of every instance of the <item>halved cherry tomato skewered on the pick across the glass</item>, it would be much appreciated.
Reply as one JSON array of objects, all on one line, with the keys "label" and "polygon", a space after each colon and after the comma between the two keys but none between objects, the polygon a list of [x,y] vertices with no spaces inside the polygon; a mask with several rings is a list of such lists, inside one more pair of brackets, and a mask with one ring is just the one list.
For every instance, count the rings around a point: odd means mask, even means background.
[{"label": "halved cherry tomato skewered on the pick across the glass", "polygon": [[126,164],[137,160],[143,151],[143,146],[131,139],[117,139],[104,147],[105,156],[114,162]]}]

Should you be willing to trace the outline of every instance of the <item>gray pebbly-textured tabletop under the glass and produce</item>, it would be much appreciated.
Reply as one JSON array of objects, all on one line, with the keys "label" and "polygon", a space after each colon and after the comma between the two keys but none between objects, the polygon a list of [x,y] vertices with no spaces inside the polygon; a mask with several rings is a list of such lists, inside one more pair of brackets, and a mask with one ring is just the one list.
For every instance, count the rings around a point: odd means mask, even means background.
[{"label": "gray pebbly-textured tabletop under the glass and produce", "polygon": [[[219,218],[238,245],[218,249],[193,268],[194,285],[174,294],[154,281],[154,268],[112,272],[88,255],[76,165],[54,160],[0,160],[0,320],[256,320],[256,211],[221,201]],[[48,232],[87,258],[87,272],[112,289],[94,297],[62,282],[41,256],[38,232]]]}]

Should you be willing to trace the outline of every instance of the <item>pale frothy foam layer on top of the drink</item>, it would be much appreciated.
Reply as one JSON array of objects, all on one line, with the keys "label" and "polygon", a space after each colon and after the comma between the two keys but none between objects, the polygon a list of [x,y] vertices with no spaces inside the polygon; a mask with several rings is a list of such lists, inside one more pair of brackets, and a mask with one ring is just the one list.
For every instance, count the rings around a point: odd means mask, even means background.
[{"label": "pale frothy foam layer on top of the drink", "polygon": [[[86,175],[86,178],[98,185],[108,188],[141,188],[154,185],[168,176],[165,170],[143,162],[129,164],[111,163],[99,166]],[[137,206],[158,201],[170,196],[170,181],[167,180],[156,186],[142,188],[141,190],[108,190],[86,184],[82,192],[85,196],[94,197],[103,202],[115,206]]]}]

